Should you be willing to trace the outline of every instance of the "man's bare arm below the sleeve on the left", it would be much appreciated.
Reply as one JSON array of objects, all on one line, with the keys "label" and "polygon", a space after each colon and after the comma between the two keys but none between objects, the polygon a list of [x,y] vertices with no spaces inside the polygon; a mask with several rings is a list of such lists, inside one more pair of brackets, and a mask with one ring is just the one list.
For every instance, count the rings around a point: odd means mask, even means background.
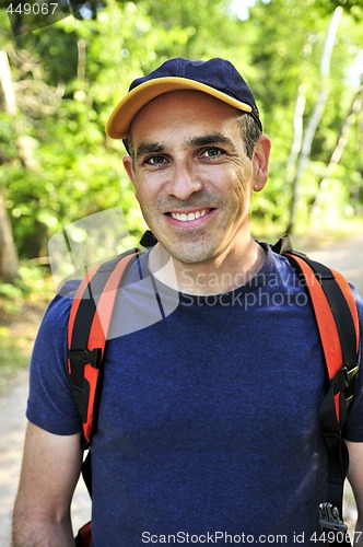
[{"label": "man's bare arm below the sleeve on the left", "polygon": [[13,547],[74,546],[70,504],[80,475],[80,434],[54,435],[28,423],[13,515]]}]

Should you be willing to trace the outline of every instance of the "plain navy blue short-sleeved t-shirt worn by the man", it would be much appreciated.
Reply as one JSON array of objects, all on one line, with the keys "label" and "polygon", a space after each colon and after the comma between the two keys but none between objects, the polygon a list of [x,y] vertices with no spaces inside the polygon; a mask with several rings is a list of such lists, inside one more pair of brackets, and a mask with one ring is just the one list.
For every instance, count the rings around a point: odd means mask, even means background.
[{"label": "plain navy blue short-sleeved t-shirt worn by the man", "polygon": [[[92,444],[95,546],[319,545],[325,365],[305,288],[266,251],[247,284],[210,296],[162,286],[145,255],[130,270]],[[30,421],[60,435],[81,429],[67,375],[69,296],[43,321],[27,407]],[[347,439],[363,442],[362,417],[361,375]]]}]

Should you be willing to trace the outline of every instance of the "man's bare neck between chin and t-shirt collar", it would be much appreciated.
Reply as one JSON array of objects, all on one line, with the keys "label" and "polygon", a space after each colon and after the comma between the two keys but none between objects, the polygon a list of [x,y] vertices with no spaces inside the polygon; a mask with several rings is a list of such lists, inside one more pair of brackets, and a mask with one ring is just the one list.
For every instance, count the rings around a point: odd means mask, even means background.
[{"label": "man's bare neck between chin and t-shirt collar", "polygon": [[182,263],[160,244],[150,253],[149,268],[172,289],[187,294],[221,294],[246,284],[262,267],[264,248],[250,238],[237,251],[203,263]]}]

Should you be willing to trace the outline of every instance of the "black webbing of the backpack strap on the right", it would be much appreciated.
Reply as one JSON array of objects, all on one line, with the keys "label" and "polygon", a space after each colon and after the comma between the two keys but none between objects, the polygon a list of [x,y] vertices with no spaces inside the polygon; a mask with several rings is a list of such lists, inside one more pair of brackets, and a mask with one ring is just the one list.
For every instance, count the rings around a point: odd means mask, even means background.
[{"label": "black webbing of the backpack strap on the right", "polygon": [[[286,256],[298,276],[304,276],[304,274],[294,256],[300,257],[308,265],[324,290],[337,326],[342,353],[342,366],[331,380],[320,408],[323,437],[328,455],[328,480],[326,501],[320,504],[319,513],[323,531],[327,533],[327,537],[333,535],[336,538],[329,544],[335,546],[351,545],[347,534],[347,526],[342,521],[343,485],[349,466],[349,455],[341,433],[347,420],[358,374],[359,345],[356,337],[359,335],[347,299],[329,268],[311,260],[302,253],[294,252],[289,238],[280,240],[272,249]],[[311,293],[311,296],[314,299],[314,293]],[[335,406],[335,396],[338,393],[340,394],[339,421]],[[329,532],[330,535],[328,535]]]}]

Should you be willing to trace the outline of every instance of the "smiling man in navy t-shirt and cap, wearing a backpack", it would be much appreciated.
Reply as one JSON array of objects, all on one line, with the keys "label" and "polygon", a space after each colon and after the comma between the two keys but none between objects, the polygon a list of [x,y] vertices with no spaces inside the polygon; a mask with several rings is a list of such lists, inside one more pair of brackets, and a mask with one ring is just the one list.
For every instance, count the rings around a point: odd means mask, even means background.
[{"label": "smiling man in navy t-shirt and cap, wearing a backpack", "polygon": [[[107,132],[126,143],[159,243],[128,274],[107,342],[94,545],[324,544],[325,365],[305,288],[250,234],[270,152],[251,91],[227,61],[173,59],[131,84]],[[152,318],[151,292],[177,305]],[[32,360],[19,547],[73,545],[81,426],[67,377],[69,309],[55,299]],[[360,531],[362,382],[355,391],[344,437]]]}]

